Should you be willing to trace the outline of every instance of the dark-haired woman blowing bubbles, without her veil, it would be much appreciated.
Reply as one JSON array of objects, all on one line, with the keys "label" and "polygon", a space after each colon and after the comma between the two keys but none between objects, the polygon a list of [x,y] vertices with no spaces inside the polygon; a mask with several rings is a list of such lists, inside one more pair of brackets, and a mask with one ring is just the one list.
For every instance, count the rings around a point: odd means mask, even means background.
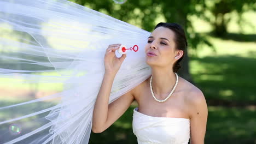
[{"label": "dark-haired woman blowing bubbles, without her veil", "polygon": [[[108,104],[115,75],[126,55],[117,58],[120,44],[109,45],[105,74],[92,118],[92,131],[101,133],[123,115],[133,101],[133,133],[138,143],[203,143],[207,105],[199,88],[177,76],[187,39],[177,23],[159,23],[145,46],[152,76]],[[191,133],[191,134],[190,134]]]}]

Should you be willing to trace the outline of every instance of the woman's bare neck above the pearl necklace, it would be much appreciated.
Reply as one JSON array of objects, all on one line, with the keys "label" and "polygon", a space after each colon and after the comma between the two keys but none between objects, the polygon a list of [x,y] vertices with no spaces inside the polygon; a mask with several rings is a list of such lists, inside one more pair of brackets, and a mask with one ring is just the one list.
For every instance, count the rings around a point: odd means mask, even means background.
[{"label": "woman's bare neck above the pearl necklace", "polygon": [[171,68],[152,68],[152,76],[154,94],[159,98],[165,98],[175,85],[176,75]]}]

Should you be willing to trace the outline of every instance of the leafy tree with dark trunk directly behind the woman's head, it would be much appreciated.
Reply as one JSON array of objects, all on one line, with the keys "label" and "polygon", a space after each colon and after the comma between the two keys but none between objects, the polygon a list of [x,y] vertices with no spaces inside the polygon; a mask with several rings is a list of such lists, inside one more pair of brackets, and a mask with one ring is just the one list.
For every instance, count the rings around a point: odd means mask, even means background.
[{"label": "leafy tree with dark trunk directly behind the woman's head", "polygon": [[[202,37],[200,34],[194,31],[191,21],[188,19],[189,15],[200,14],[201,11],[196,11],[194,5],[204,4],[204,1],[205,0],[129,0],[120,5],[115,4],[110,0],[75,0],[75,2],[80,5],[85,5],[94,10],[103,12],[121,21],[141,27],[149,32],[153,30],[154,26],[156,25],[156,19],[158,19],[159,16],[163,16],[166,22],[177,22],[184,27],[184,30],[187,33],[189,49],[196,49],[196,47],[201,43],[210,45],[205,37]],[[188,51],[185,52],[185,56],[181,64],[182,69],[179,71],[179,75],[192,82],[189,73]]]}]

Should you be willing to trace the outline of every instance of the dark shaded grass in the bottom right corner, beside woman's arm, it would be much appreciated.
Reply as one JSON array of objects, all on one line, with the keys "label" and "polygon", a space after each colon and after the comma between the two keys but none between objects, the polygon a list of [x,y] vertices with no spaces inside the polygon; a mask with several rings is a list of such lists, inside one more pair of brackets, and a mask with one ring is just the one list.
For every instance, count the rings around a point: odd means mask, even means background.
[{"label": "dark shaded grass in the bottom right corner, beside woman's arm", "polygon": [[208,106],[205,143],[254,143],[256,110]]}]

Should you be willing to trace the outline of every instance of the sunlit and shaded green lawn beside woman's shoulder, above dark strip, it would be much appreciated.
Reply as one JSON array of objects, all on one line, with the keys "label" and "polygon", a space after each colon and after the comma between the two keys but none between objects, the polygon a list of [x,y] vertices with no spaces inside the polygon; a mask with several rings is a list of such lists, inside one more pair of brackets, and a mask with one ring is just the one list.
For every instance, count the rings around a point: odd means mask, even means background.
[{"label": "sunlit and shaded green lawn beside woman's shoulder, above dark strip", "polygon": [[190,73],[206,99],[256,104],[256,43],[209,39],[215,52],[205,47],[190,57]]}]

